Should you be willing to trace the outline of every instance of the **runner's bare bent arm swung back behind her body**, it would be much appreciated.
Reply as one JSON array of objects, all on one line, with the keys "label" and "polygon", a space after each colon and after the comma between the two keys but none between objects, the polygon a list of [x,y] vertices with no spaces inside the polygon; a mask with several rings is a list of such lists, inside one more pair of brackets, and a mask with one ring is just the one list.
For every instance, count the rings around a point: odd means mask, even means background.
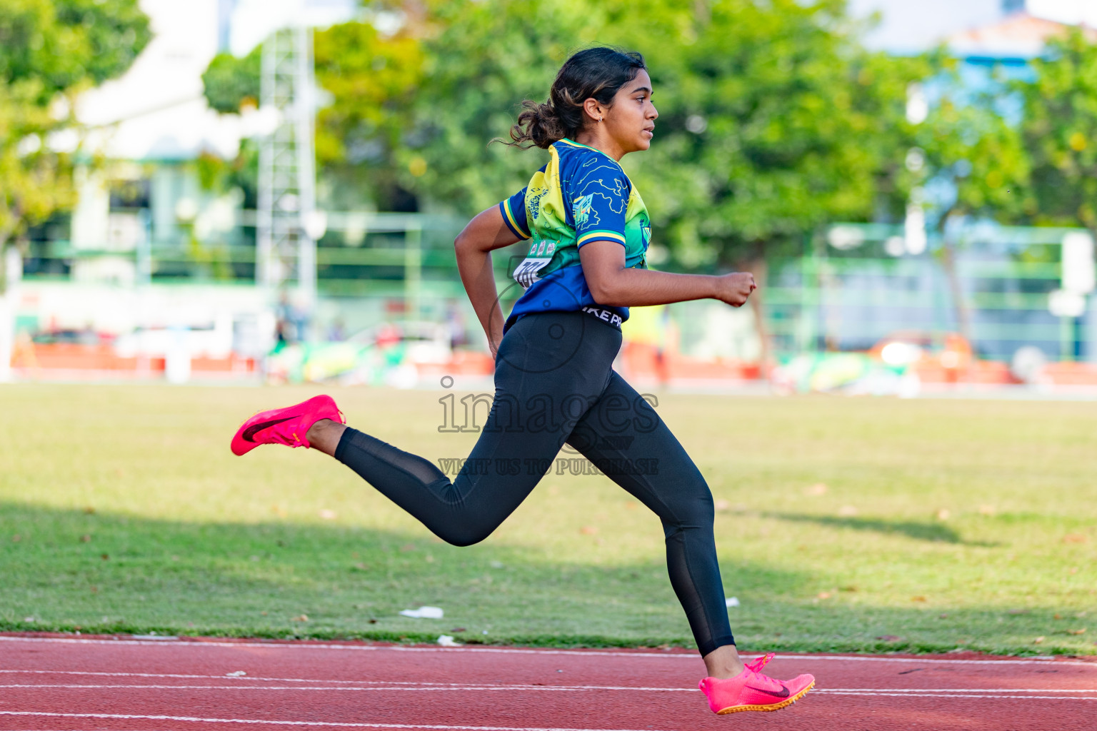
[{"label": "runner's bare bent arm swung back behind her body", "polygon": [[495,288],[495,271],[491,269],[491,251],[521,241],[502,220],[499,206],[476,214],[464,230],[453,241],[457,256],[457,271],[465,285],[468,299],[476,310],[476,317],[487,334],[491,357],[495,357],[502,341],[502,309],[499,294]]}]

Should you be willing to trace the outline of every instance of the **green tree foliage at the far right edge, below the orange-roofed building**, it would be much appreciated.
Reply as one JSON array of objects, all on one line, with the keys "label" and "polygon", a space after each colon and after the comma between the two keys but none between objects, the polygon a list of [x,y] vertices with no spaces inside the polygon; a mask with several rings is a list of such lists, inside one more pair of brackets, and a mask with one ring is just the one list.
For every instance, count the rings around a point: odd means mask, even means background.
[{"label": "green tree foliage at the far right edge, below the orange-roofed building", "polygon": [[1037,78],[1017,84],[1036,218],[1097,229],[1097,45],[1074,30],[1049,52],[1032,62]]}]

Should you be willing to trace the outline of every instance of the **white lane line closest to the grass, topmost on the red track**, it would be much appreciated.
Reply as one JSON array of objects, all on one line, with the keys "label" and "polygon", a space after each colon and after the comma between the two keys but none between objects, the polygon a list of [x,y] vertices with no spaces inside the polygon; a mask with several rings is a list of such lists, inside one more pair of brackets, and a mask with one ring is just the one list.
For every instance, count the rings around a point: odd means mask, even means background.
[{"label": "white lane line closest to the grass, topmost on the red track", "polygon": [[[218,640],[103,640],[67,637],[9,637],[0,636],[0,642],[54,642],[70,644],[110,644],[110,646],[146,646],[157,648],[268,648],[293,650],[354,650],[364,652],[472,652],[483,654],[532,654],[532,655],[569,655],[577,658],[660,658],[665,660],[689,660],[697,662],[695,653],[687,652],[619,652],[612,650],[552,650],[552,649],[518,649],[518,648],[441,648],[441,647],[374,647],[367,644],[332,644],[327,642],[225,642]],[[742,654],[765,654],[746,652]],[[1097,670],[1097,662],[1078,660],[1056,660],[1054,658],[1004,658],[1002,660],[949,660],[919,658],[881,658],[874,655],[811,655],[795,653],[779,653],[774,660],[807,660],[812,662],[890,662],[890,663],[925,663],[932,665],[1055,665],[1082,666]]]}]

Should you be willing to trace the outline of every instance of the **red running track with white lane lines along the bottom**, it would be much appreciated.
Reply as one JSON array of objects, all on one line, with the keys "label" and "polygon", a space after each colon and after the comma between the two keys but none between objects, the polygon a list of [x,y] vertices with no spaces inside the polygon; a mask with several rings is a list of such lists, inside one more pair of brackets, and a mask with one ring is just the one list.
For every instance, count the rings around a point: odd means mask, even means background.
[{"label": "red running track with white lane lines along the bottom", "polygon": [[715,716],[685,650],[0,636],[0,729],[1097,730],[1097,662],[782,655],[816,689]]}]

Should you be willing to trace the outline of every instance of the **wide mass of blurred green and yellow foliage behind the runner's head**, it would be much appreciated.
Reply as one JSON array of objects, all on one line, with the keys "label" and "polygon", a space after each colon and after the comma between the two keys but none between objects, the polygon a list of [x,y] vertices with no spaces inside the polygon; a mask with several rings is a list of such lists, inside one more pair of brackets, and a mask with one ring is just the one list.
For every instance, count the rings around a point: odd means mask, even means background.
[{"label": "wide mass of blurred green and yellow foliage behind the runner's head", "polygon": [[[925,64],[860,50],[842,12],[837,1],[489,0],[428,3],[395,38],[337,26],[316,45],[336,99],[318,148],[472,215],[544,160],[487,144],[507,137],[521,100],[543,100],[581,47],[634,48],[660,119],[652,151],[625,165],[660,240],[679,265],[742,261],[827,220],[866,219],[878,191],[905,180],[894,140]],[[359,108],[367,93],[372,112]]]}]

